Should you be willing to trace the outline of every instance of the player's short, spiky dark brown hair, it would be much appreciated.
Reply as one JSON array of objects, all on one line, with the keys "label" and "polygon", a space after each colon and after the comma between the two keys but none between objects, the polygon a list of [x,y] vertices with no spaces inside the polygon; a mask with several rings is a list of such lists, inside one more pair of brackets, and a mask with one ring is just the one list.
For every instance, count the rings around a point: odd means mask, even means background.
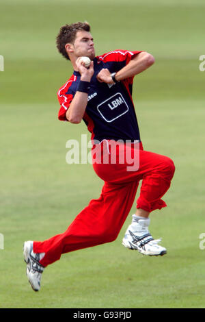
[{"label": "player's short, spiky dark brown hair", "polygon": [[90,32],[89,23],[72,23],[71,25],[64,25],[59,30],[59,34],[56,37],[56,45],[59,53],[64,56],[67,60],[70,60],[68,53],[66,52],[65,45],[73,43],[79,30],[85,30],[85,32]]}]

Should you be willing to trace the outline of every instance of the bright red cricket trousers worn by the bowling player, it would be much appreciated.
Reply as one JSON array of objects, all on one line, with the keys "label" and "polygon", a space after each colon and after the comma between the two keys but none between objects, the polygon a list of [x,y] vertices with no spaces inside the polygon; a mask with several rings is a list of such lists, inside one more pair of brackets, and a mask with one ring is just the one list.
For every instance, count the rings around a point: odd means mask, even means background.
[{"label": "bright red cricket trousers worn by the bowling player", "polygon": [[[66,232],[33,243],[35,253],[45,253],[40,260],[42,266],[59,260],[62,253],[115,240],[133,206],[140,180],[142,183],[137,208],[152,212],[167,206],[161,197],[169,189],[175,171],[174,162],[166,156],[143,151],[141,143],[137,147],[138,154],[133,145],[126,149],[131,156],[139,159],[139,169],[135,169],[135,166],[132,171],[128,171],[131,162],[127,162],[126,158],[124,162],[119,160],[124,154],[123,144],[115,151],[114,162],[111,160],[111,141],[105,140],[103,145],[93,147],[94,171],[105,182],[101,195],[99,199],[90,201]],[[100,162],[102,155],[104,163]]]}]

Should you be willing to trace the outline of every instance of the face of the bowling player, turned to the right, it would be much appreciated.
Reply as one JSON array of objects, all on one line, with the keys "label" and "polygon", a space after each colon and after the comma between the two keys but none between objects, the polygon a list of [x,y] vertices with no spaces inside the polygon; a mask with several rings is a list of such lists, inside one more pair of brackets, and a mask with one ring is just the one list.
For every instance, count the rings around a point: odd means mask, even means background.
[{"label": "face of the bowling player, turned to the right", "polygon": [[72,53],[74,53],[76,58],[87,56],[93,60],[95,57],[95,50],[92,34],[90,34],[90,32],[85,32],[84,30],[79,30],[76,34],[74,43],[72,44],[72,50]]}]

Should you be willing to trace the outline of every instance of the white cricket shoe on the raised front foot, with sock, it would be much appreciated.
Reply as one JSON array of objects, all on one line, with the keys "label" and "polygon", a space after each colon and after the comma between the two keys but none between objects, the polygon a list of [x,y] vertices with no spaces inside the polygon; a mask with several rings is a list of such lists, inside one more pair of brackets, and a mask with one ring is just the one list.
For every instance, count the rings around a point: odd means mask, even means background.
[{"label": "white cricket shoe on the raised front foot, with sock", "polygon": [[163,256],[167,249],[158,245],[160,239],[154,239],[148,230],[150,219],[142,219],[131,223],[126,230],[122,245],[128,249],[137,249],[139,253],[150,256]]}]

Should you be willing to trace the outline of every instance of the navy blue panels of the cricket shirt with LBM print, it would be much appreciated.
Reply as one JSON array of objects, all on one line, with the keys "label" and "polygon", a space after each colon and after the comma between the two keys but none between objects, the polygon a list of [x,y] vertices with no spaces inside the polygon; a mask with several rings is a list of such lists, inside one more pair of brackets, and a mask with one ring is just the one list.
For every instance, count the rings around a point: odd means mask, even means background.
[{"label": "navy blue panels of the cricket shirt with LBM print", "polygon": [[[90,92],[87,98],[85,112],[94,123],[95,140],[139,140],[139,127],[133,101],[122,82],[114,85],[100,83],[96,76],[101,69],[109,69],[111,73],[125,66],[124,62],[102,62],[94,58],[94,75],[90,82]],[[74,95],[80,82],[81,75],[74,71],[77,77],[72,82],[66,94]],[[129,85],[132,93],[132,85]],[[87,121],[83,119],[87,125]]]}]

